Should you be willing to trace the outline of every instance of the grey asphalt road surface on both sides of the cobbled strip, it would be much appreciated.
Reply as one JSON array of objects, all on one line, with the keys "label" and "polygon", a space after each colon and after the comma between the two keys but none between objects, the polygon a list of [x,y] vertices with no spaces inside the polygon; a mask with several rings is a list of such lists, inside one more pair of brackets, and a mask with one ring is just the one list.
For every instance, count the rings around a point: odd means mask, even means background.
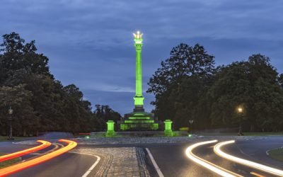
[{"label": "grey asphalt road surface on both sides of the cobbled strip", "polygon": [[[176,176],[217,176],[215,173],[204,169],[202,166],[190,161],[185,155],[185,149],[192,143],[178,143],[178,144],[111,144],[111,145],[79,145],[76,148],[83,147],[144,147],[149,148],[151,154],[161,169],[164,176],[176,177]],[[252,176],[250,172],[256,172],[263,176],[271,176],[267,173],[262,173],[255,169],[251,169],[246,166],[235,164],[231,161],[216,156],[213,152],[213,145],[204,145],[193,150],[193,153],[200,156],[202,159],[211,161],[212,163],[221,166],[234,173],[241,174],[243,176]],[[34,146],[34,145],[33,145]],[[33,147],[31,145],[12,144],[11,142],[1,142],[1,152],[16,152],[21,149]],[[283,146],[283,137],[269,137],[268,139],[253,140],[253,141],[238,141],[235,144],[227,145],[223,150],[228,154],[239,156],[243,159],[250,161],[256,161],[260,164],[266,164],[273,166],[277,169],[283,169],[283,163],[270,159],[266,155],[268,149],[275,149]],[[54,147],[49,147],[45,151],[51,150]],[[42,151],[41,153],[44,153]],[[23,159],[33,158],[35,155],[23,156]],[[151,164],[149,156],[147,156],[146,163],[151,176],[157,176],[157,173]],[[43,164],[33,166],[30,169],[25,169],[21,172],[15,173],[11,176],[82,176],[83,173],[95,163],[95,156],[88,156],[83,154],[67,153],[58,156],[55,159],[47,161]],[[93,170],[93,173],[99,169],[100,163]]]}]

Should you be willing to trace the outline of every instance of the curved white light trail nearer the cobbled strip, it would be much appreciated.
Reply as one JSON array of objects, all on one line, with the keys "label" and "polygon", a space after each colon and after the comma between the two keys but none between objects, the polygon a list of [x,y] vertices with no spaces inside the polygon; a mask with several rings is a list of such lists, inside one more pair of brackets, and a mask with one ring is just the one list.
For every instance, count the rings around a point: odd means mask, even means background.
[{"label": "curved white light trail nearer the cobbled strip", "polygon": [[206,161],[204,159],[201,159],[199,156],[196,156],[195,154],[192,153],[192,150],[200,147],[205,144],[212,144],[217,142],[217,140],[212,140],[212,141],[207,141],[207,142],[198,142],[196,144],[192,144],[190,147],[187,147],[185,154],[189,159],[194,161],[195,163],[199,164],[200,166],[203,166],[206,169],[209,169],[210,171],[219,174],[220,176],[225,176],[225,177],[236,177],[236,176],[241,176],[237,173],[233,173],[232,171],[228,171],[226,169],[221,168],[220,166],[216,166],[216,164],[212,164],[209,161]]}]

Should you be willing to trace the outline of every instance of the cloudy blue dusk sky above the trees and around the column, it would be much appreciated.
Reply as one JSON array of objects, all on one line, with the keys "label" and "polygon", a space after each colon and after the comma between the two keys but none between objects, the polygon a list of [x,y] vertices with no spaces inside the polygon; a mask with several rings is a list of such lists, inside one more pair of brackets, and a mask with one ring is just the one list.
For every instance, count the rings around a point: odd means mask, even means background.
[{"label": "cloudy blue dusk sky above the trees and around the column", "polygon": [[[143,89],[171,48],[200,43],[216,65],[261,53],[283,72],[282,0],[1,0],[0,34],[19,33],[50,59],[62,84],[84,98],[132,112],[135,50],[144,33]],[[145,108],[154,96],[144,93]]]}]

